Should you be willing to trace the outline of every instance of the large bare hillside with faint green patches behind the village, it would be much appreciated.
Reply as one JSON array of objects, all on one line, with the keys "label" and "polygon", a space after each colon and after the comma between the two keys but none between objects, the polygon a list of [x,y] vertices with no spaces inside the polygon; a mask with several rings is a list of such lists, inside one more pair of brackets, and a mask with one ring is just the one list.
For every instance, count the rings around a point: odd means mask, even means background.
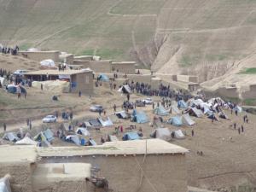
[{"label": "large bare hillside with faint green patches behind the village", "polygon": [[192,73],[249,55],[255,10],[255,0],[0,0],[0,42]]}]

